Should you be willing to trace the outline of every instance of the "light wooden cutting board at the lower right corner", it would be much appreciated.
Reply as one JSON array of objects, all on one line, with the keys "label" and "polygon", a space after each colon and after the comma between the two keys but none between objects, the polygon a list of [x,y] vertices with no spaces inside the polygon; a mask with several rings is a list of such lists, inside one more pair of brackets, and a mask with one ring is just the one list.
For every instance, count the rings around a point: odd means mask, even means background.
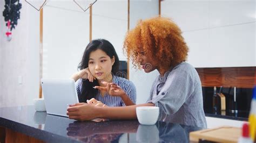
[{"label": "light wooden cutting board at the lower right corner", "polygon": [[231,126],[194,131],[190,132],[190,141],[198,142],[199,139],[202,139],[215,142],[238,142],[241,131],[241,128]]}]

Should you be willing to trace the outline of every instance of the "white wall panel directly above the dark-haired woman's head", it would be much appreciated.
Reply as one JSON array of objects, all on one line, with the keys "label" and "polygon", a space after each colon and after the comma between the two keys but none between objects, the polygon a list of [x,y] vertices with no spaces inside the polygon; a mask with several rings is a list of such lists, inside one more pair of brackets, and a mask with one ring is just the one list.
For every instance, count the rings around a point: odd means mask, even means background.
[{"label": "white wall panel directly above the dark-haired woman's head", "polygon": [[116,49],[119,60],[126,61],[123,41],[127,32],[128,2],[97,1],[92,9],[92,39],[109,40]]}]

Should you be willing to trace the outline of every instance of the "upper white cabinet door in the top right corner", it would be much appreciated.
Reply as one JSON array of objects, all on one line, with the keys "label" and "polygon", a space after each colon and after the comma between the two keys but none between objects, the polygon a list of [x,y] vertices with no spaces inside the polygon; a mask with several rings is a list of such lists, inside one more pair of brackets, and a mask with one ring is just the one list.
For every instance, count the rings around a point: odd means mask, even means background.
[{"label": "upper white cabinet door in the top right corner", "polygon": [[210,27],[255,22],[255,0],[209,1]]}]

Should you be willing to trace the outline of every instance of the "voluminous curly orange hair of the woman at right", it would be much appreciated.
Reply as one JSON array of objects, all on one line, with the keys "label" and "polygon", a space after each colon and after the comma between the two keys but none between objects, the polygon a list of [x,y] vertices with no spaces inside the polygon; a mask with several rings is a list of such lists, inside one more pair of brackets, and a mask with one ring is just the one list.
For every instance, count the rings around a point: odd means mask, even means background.
[{"label": "voluminous curly orange hair of the woman at right", "polygon": [[187,58],[188,47],[181,33],[169,18],[140,20],[133,30],[127,32],[124,51],[128,59],[132,59],[134,67],[140,68],[136,61],[139,48],[160,68],[171,67]]}]

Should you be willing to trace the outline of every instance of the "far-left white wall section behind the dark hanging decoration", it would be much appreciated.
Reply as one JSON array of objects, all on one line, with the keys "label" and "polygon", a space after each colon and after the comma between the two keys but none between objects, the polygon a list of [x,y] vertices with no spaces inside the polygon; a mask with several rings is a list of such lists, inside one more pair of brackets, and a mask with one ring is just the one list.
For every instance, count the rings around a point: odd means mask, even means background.
[{"label": "far-left white wall section behind the dark hanging decoration", "polygon": [[[39,95],[39,12],[22,3],[21,17],[7,41],[0,1],[0,107],[31,105]],[[18,83],[18,77],[22,83]]]}]

